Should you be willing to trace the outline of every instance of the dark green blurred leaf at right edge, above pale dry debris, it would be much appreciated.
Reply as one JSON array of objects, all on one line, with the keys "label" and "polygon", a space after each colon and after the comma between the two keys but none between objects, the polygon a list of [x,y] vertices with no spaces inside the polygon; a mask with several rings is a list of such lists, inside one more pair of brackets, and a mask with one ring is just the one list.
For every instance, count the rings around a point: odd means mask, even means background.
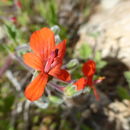
[{"label": "dark green blurred leaf at right edge, above pale dry debris", "polygon": [[130,95],[127,89],[123,88],[123,87],[118,87],[117,88],[117,92],[118,95],[122,98],[122,99],[129,99],[130,100]]}]

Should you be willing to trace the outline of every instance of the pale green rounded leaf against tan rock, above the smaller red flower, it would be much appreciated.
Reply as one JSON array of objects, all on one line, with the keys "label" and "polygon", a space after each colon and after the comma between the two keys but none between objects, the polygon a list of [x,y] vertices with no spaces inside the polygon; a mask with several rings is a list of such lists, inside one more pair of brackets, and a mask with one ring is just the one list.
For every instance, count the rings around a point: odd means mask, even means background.
[{"label": "pale green rounded leaf against tan rock, above the smaller red flower", "polygon": [[86,43],[82,44],[79,49],[79,56],[81,59],[88,59],[92,55],[92,48]]}]

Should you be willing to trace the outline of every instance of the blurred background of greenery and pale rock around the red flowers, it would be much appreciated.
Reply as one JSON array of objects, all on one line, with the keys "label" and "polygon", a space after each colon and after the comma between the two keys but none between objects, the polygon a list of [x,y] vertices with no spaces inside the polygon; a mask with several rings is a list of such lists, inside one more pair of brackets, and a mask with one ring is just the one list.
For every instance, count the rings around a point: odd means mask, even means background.
[{"label": "blurred background of greenery and pale rock around the red flowers", "polygon": [[[33,70],[22,55],[42,27],[67,39],[74,80],[85,61],[96,62],[95,78],[105,77],[99,101],[71,89],[69,98],[49,89],[33,103],[24,97]],[[130,0],[0,0],[0,130],[130,130],[129,69]]]}]

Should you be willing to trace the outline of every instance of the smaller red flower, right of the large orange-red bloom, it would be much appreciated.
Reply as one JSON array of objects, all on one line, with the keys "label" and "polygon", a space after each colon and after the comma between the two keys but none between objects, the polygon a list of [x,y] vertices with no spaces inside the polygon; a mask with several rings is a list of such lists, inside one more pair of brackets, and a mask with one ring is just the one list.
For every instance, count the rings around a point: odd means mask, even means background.
[{"label": "smaller red flower, right of the large orange-red bloom", "polygon": [[85,77],[80,78],[78,81],[76,81],[74,83],[74,85],[77,86],[77,90],[80,91],[80,90],[84,89],[85,86],[90,86],[93,89],[96,98],[99,99],[99,95],[98,95],[96,88],[94,86],[95,82],[93,82],[93,76],[94,76],[95,71],[96,71],[95,62],[92,60],[88,60],[83,65],[82,71],[83,71]]}]

